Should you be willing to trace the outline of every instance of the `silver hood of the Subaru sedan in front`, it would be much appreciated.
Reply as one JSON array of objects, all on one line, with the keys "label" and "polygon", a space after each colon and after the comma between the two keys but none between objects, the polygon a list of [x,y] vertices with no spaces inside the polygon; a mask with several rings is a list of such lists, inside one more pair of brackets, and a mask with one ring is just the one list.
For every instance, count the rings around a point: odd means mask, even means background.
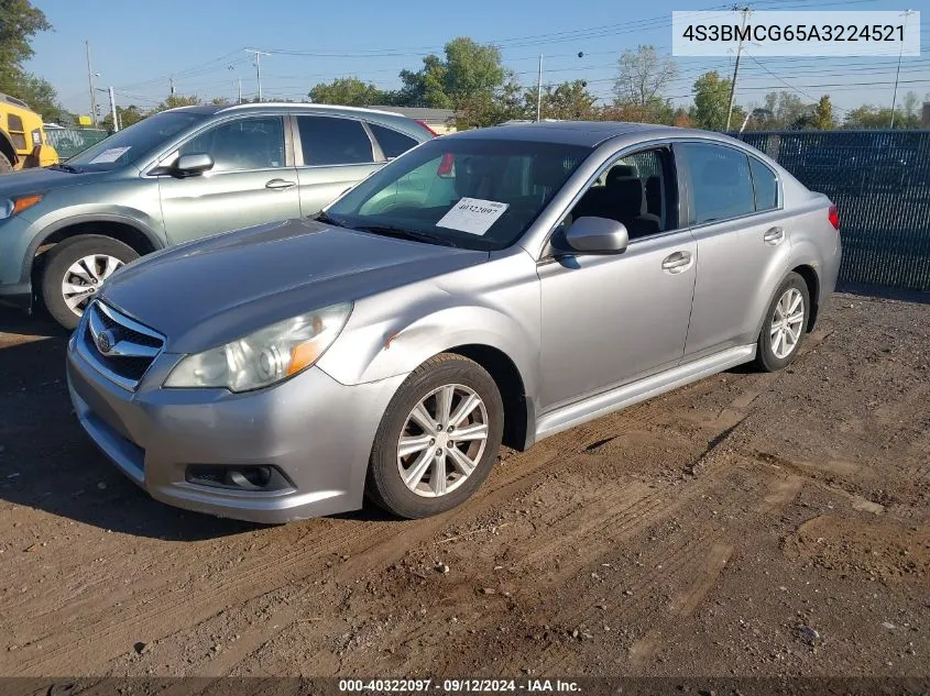
[{"label": "silver hood of the Subaru sedan in front", "polygon": [[166,351],[194,353],[313,309],[488,257],[486,252],[291,220],[146,256],[113,274],[100,295],[163,333]]}]

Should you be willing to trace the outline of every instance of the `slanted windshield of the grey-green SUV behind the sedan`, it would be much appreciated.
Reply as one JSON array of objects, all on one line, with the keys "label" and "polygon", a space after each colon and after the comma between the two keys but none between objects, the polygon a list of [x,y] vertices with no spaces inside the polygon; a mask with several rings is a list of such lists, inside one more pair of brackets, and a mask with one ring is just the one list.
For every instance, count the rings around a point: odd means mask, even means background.
[{"label": "slanted windshield of the grey-green SUV behind the sedan", "polygon": [[81,172],[105,172],[132,164],[208,115],[189,111],[156,113],[88,147],[68,159],[68,165]]}]

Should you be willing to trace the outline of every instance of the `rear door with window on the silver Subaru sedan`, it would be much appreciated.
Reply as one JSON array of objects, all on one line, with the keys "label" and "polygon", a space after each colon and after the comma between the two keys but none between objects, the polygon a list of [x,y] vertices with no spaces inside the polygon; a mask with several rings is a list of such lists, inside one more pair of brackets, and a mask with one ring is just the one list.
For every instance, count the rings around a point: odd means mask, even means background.
[{"label": "rear door with window on the silver Subaru sedan", "polygon": [[775,172],[743,150],[711,142],[675,145],[698,243],[686,360],[757,339],[759,294],[774,291],[788,256],[790,216]]}]

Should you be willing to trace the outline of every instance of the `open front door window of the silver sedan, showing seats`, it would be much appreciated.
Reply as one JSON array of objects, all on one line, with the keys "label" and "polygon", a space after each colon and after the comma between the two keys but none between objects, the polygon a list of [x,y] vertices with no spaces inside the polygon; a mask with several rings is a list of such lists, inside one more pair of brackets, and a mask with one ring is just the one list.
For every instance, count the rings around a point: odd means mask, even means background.
[{"label": "open front door window of the silver sedan, showing seats", "polygon": [[626,225],[631,240],[647,236],[677,227],[675,195],[671,152],[644,150],[614,162],[575,205],[570,218],[609,218]]}]

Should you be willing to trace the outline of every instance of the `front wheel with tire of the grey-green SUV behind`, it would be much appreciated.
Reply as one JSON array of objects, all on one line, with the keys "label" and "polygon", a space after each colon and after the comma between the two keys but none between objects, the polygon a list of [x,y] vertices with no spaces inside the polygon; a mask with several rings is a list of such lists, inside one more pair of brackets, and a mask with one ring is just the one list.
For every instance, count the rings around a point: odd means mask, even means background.
[{"label": "front wheel with tire of the grey-green SUV behind", "polygon": [[[94,258],[92,263],[88,261],[90,258]],[[58,242],[45,255],[41,286],[45,308],[65,329],[74,329],[99,284],[119,266],[135,258],[139,254],[131,246],[101,234],[81,234]],[[83,259],[86,263],[80,267],[78,264]],[[81,275],[72,273],[75,267]],[[68,298],[63,287],[66,281],[73,291]],[[87,292],[78,291],[79,287],[87,287]],[[80,302],[74,305],[76,299]]]}]

